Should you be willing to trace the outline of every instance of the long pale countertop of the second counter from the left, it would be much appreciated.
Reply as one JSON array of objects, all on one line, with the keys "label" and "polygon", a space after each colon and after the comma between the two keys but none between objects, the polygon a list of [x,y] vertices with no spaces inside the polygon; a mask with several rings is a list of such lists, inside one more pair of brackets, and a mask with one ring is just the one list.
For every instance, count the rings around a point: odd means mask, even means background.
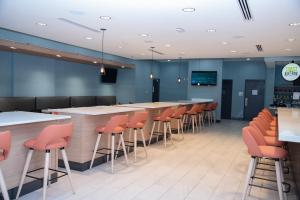
[{"label": "long pale countertop of the second counter from the left", "polygon": [[43,112],[63,113],[63,114],[81,114],[81,115],[106,115],[114,113],[142,111],[142,108],[128,108],[119,106],[91,106],[91,107],[77,107],[77,108],[61,108],[61,109],[47,109]]}]

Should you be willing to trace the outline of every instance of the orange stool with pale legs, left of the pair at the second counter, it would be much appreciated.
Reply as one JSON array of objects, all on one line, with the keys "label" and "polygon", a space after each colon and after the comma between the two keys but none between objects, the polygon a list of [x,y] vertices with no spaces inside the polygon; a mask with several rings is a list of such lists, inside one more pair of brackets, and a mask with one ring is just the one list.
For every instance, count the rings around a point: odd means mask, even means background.
[{"label": "orange stool with pale legs, left of the pair at the second counter", "polygon": [[[123,137],[123,135],[124,135],[123,133],[125,131],[127,122],[128,122],[128,115],[115,115],[115,116],[111,117],[111,119],[107,122],[107,124],[105,126],[100,126],[100,127],[96,128],[96,132],[98,133],[98,136],[97,136],[97,140],[96,140],[96,144],[95,144],[95,148],[94,148],[94,152],[93,152],[93,157],[92,157],[91,164],[90,164],[90,169],[93,167],[96,153],[98,153],[98,154],[102,154],[102,155],[107,155],[107,156],[110,155],[111,156],[111,172],[114,173],[115,135],[116,134],[120,136],[120,141],[122,143],[123,153],[125,156],[126,164],[128,165],[126,147],[125,147],[124,137]],[[110,149],[109,148],[98,149],[102,134],[110,134],[111,135],[111,148]],[[110,154],[103,153],[102,150],[110,150],[111,153]]]}]

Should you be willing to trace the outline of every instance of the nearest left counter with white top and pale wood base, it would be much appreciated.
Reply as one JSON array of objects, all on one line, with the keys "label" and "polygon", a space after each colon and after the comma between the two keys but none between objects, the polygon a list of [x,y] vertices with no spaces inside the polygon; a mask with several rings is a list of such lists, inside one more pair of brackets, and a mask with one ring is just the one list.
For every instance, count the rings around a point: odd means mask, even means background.
[{"label": "nearest left counter with white top and pale wood base", "polygon": [[[0,163],[4,178],[13,197],[16,194],[22,171],[25,165],[27,149],[23,143],[35,138],[43,128],[51,124],[66,123],[70,119],[64,115],[49,115],[33,112],[3,112],[0,113],[0,132],[9,130],[12,134],[11,151],[7,160]],[[56,154],[52,154],[51,167],[57,166]],[[44,152],[33,154],[29,170],[44,166]],[[41,181],[26,178],[23,193],[34,191],[42,186]]]}]

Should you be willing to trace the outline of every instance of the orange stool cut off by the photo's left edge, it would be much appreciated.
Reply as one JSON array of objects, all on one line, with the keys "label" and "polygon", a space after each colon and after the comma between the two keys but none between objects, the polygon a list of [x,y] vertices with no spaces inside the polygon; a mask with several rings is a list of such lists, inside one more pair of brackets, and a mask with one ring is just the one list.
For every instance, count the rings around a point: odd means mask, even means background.
[{"label": "orange stool cut off by the photo's left edge", "polygon": [[[0,161],[6,160],[10,151],[11,134],[9,131],[0,133]],[[4,200],[9,200],[6,184],[0,168],[0,189]]]}]

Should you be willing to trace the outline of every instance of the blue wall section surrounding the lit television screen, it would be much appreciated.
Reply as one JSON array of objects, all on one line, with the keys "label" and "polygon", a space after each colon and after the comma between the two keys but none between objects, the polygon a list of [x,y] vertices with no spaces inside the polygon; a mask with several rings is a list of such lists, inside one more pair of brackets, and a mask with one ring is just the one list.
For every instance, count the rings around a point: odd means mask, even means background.
[{"label": "blue wall section surrounding the lit television screen", "polygon": [[[190,60],[188,69],[188,87],[187,99],[192,98],[210,98],[218,102],[219,106],[216,111],[217,119],[221,118],[221,91],[222,91],[222,69],[223,60]],[[217,71],[217,85],[216,86],[192,86],[191,73],[192,71]]]}]

